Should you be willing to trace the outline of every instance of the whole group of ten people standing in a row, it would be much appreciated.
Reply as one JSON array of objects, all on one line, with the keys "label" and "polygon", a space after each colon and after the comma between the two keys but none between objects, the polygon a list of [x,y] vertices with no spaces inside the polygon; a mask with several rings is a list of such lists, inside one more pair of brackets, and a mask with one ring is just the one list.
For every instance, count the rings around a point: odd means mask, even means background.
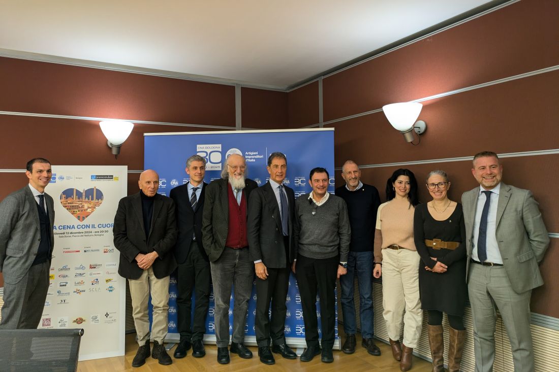
[{"label": "whole group of ten people standing in a row", "polygon": [[[444,371],[443,313],[449,323],[448,369],[459,370],[468,295],[476,372],[492,370],[497,309],[510,338],[515,370],[534,370],[529,301],[531,290],[543,284],[538,264],[549,237],[532,193],[501,182],[503,167],[494,152],[474,156],[472,174],[480,187],[464,193],[462,204],[449,199],[451,182],[442,170],[428,174],[425,187],[432,200],[425,203],[419,203],[414,173],[396,170],[387,180],[387,202],[381,204],[378,190],[361,182],[361,171],[351,160],[342,167],[345,185],[334,194],[328,193],[328,171],[314,168],[309,174],[311,192],[297,199],[283,184],[287,158],[281,152],[269,156],[269,181],[262,187],[246,177],[241,155],[230,155],[221,178],[210,184],[203,180],[205,167],[201,156],[188,158],[190,180],[172,189],[169,198],[157,192],[158,174],[145,170],[138,181],[140,191],[119,202],[114,244],[120,251],[119,274],[129,282],[139,344],[132,366],[143,365],[150,354],[160,364],[172,363],[163,341],[168,328],[169,275],[174,270],[180,333],[174,357],[185,357],[191,349],[192,356],[205,356],[202,338],[213,285],[217,361],[230,363],[230,352],[252,358],[244,345],[244,327],[255,280],[254,329],[260,361],[274,364],[273,354],[296,359],[284,333],[293,271],[307,344],[301,361],[319,354],[324,363],[334,360],[337,279],[346,335],[342,351],[355,352],[355,276],[361,345],[371,355],[381,354],[373,341],[372,277],[382,275],[383,317],[392,356],[402,371],[411,368],[423,311],[428,312],[433,371]],[[0,271],[4,276],[0,328],[36,328],[48,289],[54,203],[44,190],[51,178],[50,162],[32,159],[26,174],[29,186],[0,204]]]}]

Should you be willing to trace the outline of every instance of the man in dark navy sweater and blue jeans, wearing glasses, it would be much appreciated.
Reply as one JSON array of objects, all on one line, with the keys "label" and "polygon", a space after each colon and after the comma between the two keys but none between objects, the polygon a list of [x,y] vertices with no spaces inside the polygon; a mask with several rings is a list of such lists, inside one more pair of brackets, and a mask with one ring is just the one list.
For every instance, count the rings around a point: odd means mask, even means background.
[{"label": "man in dark navy sweater and blue jeans, wearing glasses", "polygon": [[375,221],[381,204],[376,187],[361,182],[361,170],[353,160],[342,166],[345,185],[336,189],[335,194],[344,199],[348,207],[351,241],[349,243],[348,273],[340,276],[342,287],[342,309],[344,317],[345,342],[342,351],[353,354],[356,347],[357,331],[353,299],[354,276],[359,284],[359,318],[361,319],[361,346],[371,355],[381,355],[381,350],[373,341],[373,242],[375,241]]}]

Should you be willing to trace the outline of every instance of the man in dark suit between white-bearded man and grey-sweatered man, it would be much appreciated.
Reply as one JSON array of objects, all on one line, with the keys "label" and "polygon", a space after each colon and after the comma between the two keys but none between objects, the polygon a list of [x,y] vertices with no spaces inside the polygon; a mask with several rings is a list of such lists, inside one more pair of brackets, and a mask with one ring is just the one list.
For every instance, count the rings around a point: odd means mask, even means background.
[{"label": "man in dark suit between white-bearded man and grey-sweatered man", "polygon": [[[283,185],[287,158],[281,152],[268,157],[269,182],[250,194],[248,209],[248,245],[250,260],[256,272],[256,317],[254,329],[258,355],[264,364],[274,364],[270,351],[287,359],[297,354],[285,342],[286,298],[291,264],[295,259],[293,220],[295,193]],[[272,317],[268,317],[272,301]]]}]

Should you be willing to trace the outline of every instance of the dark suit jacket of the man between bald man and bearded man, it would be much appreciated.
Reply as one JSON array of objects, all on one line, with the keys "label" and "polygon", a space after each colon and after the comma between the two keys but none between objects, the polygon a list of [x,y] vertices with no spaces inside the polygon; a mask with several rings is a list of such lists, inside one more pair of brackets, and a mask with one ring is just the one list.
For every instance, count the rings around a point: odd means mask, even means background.
[{"label": "dark suit jacket of the man between bald man and bearded man", "polygon": [[192,243],[192,234],[196,236],[198,248],[202,257],[208,260],[206,251],[202,246],[202,214],[204,211],[204,194],[206,193],[207,183],[203,183],[200,192],[200,198],[192,209],[190,198],[188,198],[188,184],[181,185],[171,190],[169,197],[175,203],[175,216],[177,218],[177,242],[174,247],[174,256],[178,264],[184,263],[190,245]]}]

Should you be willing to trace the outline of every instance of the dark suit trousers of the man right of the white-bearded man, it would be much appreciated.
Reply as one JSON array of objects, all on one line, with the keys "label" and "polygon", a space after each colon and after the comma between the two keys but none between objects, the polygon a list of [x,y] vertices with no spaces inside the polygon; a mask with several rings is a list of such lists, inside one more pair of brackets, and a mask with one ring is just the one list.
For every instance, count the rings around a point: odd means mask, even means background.
[{"label": "dark suit trousers of the man right of the white-bearded man", "polygon": [[[270,338],[273,345],[285,344],[285,318],[287,306],[287,290],[289,288],[290,268],[267,268],[268,278],[256,278],[256,316],[254,331],[259,347],[269,346]],[[272,301],[272,317],[269,317],[270,301]]]}]

